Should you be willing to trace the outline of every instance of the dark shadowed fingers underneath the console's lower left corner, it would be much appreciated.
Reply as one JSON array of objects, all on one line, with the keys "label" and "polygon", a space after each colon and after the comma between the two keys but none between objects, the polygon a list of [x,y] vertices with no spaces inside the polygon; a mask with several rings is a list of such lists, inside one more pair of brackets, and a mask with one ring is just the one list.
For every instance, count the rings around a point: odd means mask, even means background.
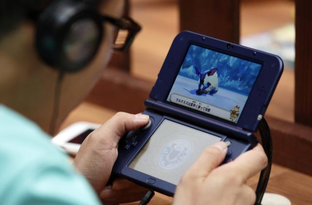
[{"label": "dark shadowed fingers underneath the console's lower left corner", "polygon": [[116,179],[112,186],[105,186],[99,193],[99,198],[104,205],[119,205],[136,202],[148,192],[147,188],[138,186],[126,179]]}]

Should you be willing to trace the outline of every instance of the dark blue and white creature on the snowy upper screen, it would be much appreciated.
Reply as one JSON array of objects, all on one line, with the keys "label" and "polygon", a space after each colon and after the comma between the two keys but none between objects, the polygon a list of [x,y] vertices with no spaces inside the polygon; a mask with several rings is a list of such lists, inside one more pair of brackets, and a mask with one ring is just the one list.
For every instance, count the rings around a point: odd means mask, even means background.
[{"label": "dark blue and white creature on the snowy upper screen", "polygon": [[195,73],[199,76],[197,95],[202,94],[215,94],[218,91],[218,69],[212,69],[201,73],[195,66]]}]

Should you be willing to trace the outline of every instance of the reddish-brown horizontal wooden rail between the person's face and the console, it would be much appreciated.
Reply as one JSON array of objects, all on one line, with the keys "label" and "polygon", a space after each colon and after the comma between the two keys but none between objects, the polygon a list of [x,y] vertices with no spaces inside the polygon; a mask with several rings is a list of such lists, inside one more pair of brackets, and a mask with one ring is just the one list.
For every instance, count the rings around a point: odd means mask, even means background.
[{"label": "reddish-brown horizontal wooden rail between the person's face and the console", "polygon": [[107,68],[87,97],[87,101],[116,111],[142,112],[154,82],[139,79],[127,72]]}]

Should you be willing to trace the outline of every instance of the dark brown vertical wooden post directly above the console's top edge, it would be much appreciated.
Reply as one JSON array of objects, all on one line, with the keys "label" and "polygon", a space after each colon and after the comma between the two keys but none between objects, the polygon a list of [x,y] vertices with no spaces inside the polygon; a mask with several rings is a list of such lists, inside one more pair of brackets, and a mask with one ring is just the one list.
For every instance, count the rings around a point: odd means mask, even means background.
[{"label": "dark brown vertical wooden post directly above the console's top edge", "polygon": [[239,42],[240,0],[179,0],[180,30]]}]

